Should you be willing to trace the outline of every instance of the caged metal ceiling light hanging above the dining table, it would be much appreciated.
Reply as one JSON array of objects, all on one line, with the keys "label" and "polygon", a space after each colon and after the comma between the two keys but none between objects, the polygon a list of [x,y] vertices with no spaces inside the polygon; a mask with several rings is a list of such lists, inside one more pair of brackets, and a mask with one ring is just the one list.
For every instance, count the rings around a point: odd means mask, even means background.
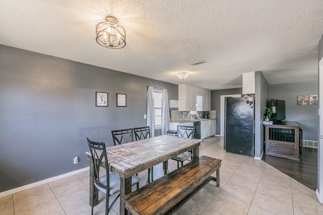
[{"label": "caged metal ceiling light hanging above the dining table", "polygon": [[123,48],[126,45],[126,30],[118,24],[118,19],[106,16],[105,22],[96,24],[96,42],[106,48]]}]

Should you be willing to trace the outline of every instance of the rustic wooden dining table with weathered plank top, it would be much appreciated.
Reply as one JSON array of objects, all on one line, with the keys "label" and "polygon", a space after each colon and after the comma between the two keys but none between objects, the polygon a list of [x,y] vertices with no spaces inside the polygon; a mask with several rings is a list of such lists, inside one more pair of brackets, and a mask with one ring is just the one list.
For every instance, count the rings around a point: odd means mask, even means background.
[{"label": "rustic wooden dining table with weathered plank top", "polygon": [[[136,175],[157,164],[163,163],[165,173],[168,171],[168,160],[193,149],[193,160],[199,158],[201,139],[190,139],[172,135],[161,135],[128,142],[118,146],[106,148],[109,170],[120,176],[120,215],[127,214],[125,202],[121,198],[131,192],[131,176]],[[90,205],[92,203],[93,169],[90,152],[86,152],[90,161]],[[98,204],[98,197],[94,205]]]}]

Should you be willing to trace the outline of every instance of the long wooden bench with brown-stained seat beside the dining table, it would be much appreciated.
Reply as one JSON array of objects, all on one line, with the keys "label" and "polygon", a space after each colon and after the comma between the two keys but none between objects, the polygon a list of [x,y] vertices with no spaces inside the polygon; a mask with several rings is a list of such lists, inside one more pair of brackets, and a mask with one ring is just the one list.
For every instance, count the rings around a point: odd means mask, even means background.
[{"label": "long wooden bench with brown-stained seat beside the dining table", "polygon": [[[157,180],[123,196],[131,214],[171,214],[209,181],[220,186],[221,160],[201,156]],[[217,171],[217,177],[211,176]]]}]

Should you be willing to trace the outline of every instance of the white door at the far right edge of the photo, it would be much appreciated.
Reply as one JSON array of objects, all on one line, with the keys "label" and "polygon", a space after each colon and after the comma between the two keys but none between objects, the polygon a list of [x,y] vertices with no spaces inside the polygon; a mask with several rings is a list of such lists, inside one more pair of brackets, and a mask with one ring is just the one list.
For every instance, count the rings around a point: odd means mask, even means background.
[{"label": "white door at the far right edge of the photo", "polygon": [[318,103],[319,103],[319,138],[317,149],[317,189],[316,195],[320,203],[323,204],[323,58],[319,61],[318,67]]}]

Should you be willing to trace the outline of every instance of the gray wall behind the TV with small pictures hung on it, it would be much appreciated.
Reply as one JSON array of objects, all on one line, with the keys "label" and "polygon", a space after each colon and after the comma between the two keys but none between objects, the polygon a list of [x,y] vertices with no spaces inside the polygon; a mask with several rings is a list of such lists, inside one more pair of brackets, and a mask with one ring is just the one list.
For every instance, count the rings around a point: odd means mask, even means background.
[{"label": "gray wall behind the TV with small pictures hung on it", "polygon": [[[317,141],[318,105],[297,105],[297,95],[318,93],[318,83],[300,82],[269,86],[270,99],[285,100],[287,121],[296,121],[303,129],[303,139]],[[321,98],[319,98],[321,99]]]}]

